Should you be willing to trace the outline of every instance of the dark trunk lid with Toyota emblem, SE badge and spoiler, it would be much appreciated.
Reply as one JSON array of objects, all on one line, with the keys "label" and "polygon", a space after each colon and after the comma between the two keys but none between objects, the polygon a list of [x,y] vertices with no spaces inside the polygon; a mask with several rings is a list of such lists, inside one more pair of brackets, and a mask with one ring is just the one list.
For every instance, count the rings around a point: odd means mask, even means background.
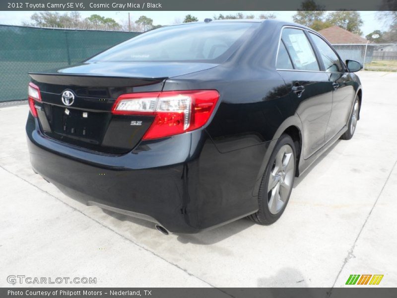
[{"label": "dark trunk lid with Toyota emblem, SE badge and spoiler", "polygon": [[154,116],[114,115],[115,100],[134,92],[161,91],[171,76],[212,68],[193,63],[91,63],[30,73],[40,88],[41,130],[55,140],[108,153],[132,150]]}]

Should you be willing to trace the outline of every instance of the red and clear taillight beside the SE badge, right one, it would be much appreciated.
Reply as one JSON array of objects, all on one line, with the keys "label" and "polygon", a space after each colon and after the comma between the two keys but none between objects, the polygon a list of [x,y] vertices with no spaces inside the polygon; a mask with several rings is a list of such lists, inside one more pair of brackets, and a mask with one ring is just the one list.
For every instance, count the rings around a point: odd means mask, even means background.
[{"label": "red and clear taillight beside the SE badge, right one", "polygon": [[205,125],[218,98],[216,90],[123,94],[117,98],[112,113],[155,116],[142,139],[158,139],[190,132]]}]

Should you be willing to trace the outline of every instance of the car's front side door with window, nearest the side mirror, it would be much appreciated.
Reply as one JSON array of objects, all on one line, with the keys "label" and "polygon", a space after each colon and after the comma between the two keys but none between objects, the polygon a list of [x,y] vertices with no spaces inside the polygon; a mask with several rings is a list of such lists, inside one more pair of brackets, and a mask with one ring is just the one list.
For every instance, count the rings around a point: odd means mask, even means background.
[{"label": "car's front side door with window, nearest the side mirror", "polygon": [[326,131],[326,142],[331,140],[347,123],[355,91],[350,74],[331,46],[319,35],[310,32],[310,38],[318,49],[333,88],[332,111]]}]

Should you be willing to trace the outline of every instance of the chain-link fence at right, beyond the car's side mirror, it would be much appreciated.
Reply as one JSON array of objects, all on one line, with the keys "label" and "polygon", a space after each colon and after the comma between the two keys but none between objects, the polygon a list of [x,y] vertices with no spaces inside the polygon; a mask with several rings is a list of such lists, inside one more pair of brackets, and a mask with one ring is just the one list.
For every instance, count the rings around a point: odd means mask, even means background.
[{"label": "chain-link fence at right, beyond the car's side mirror", "polygon": [[397,43],[333,45],[340,58],[356,60],[367,71],[397,72]]}]

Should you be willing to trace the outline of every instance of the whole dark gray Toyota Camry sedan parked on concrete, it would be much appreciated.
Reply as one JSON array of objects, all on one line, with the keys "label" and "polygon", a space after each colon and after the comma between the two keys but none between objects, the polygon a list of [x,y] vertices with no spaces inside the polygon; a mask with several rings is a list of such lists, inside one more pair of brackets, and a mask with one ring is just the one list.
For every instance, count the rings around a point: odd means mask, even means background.
[{"label": "whole dark gray Toyota Camry sedan parked on concrete", "polygon": [[70,197],[164,233],[246,216],[272,224],[294,177],[353,136],[361,68],[315,31],[276,20],[148,31],[30,73],[31,163]]}]

